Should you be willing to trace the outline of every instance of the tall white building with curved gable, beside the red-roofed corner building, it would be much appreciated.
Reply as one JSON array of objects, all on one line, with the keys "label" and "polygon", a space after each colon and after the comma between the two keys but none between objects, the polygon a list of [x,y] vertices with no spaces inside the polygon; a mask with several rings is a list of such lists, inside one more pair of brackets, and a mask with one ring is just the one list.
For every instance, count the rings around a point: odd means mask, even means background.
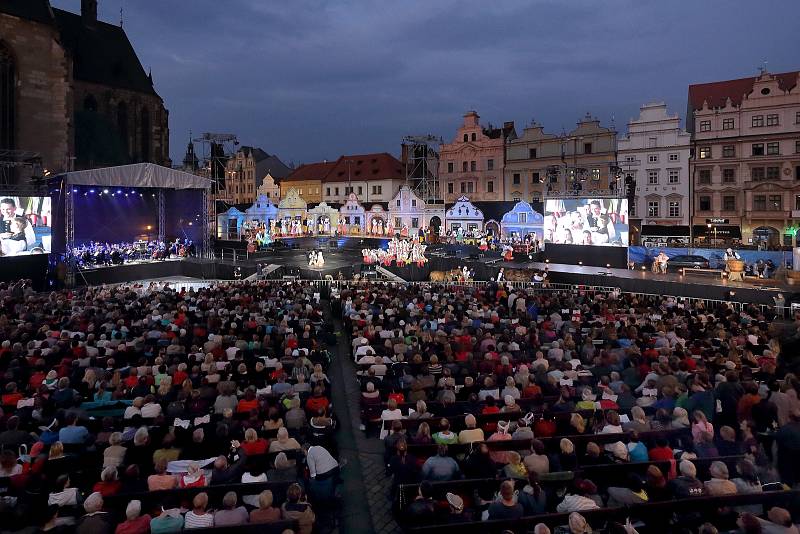
[{"label": "tall white building with curved gable, beside the red-roofed corner building", "polygon": [[[689,146],[678,115],[663,102],[645,104],[619,140],[619,161],[625,176],[636,180],[636,196],[628,207],[637,224],[689,224]],[[633,230],[633,229],[632,229]]]}]

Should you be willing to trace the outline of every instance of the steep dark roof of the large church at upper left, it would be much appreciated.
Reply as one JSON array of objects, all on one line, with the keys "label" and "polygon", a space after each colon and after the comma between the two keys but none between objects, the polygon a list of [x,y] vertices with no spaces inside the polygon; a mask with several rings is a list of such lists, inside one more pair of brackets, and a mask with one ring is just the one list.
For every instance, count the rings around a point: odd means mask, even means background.
[{"label": "steep dark roof of the large church at upper left", "polygon": [[61,9],[53,14],[61,42],[72,55],[76,80],[156,95],[122,28],[99,20],[87,26],[80,15]]}]

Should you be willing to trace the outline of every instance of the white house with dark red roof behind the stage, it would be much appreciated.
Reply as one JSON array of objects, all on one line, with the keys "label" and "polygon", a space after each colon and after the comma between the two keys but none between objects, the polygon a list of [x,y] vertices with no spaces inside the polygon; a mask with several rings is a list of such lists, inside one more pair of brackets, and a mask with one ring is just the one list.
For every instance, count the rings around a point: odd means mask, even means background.
[{"label": "white house with dark red roof behind the stage", "polygon": [[355,193],[364,204],[389,202],[405,184],[403,165],[386,152],[341,156],[322,180],[322,199],[347,202]]}]

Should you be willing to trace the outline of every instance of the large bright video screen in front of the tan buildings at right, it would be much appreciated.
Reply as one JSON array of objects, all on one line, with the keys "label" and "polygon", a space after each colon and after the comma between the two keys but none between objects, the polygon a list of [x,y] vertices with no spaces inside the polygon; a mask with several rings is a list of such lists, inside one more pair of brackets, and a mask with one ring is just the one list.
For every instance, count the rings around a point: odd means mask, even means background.
[{"label": "large bright video screen in front of the tan buildings at right", "polygon": [[628,246],[628,200],[548,199],[544,242],[557,245]]}]

